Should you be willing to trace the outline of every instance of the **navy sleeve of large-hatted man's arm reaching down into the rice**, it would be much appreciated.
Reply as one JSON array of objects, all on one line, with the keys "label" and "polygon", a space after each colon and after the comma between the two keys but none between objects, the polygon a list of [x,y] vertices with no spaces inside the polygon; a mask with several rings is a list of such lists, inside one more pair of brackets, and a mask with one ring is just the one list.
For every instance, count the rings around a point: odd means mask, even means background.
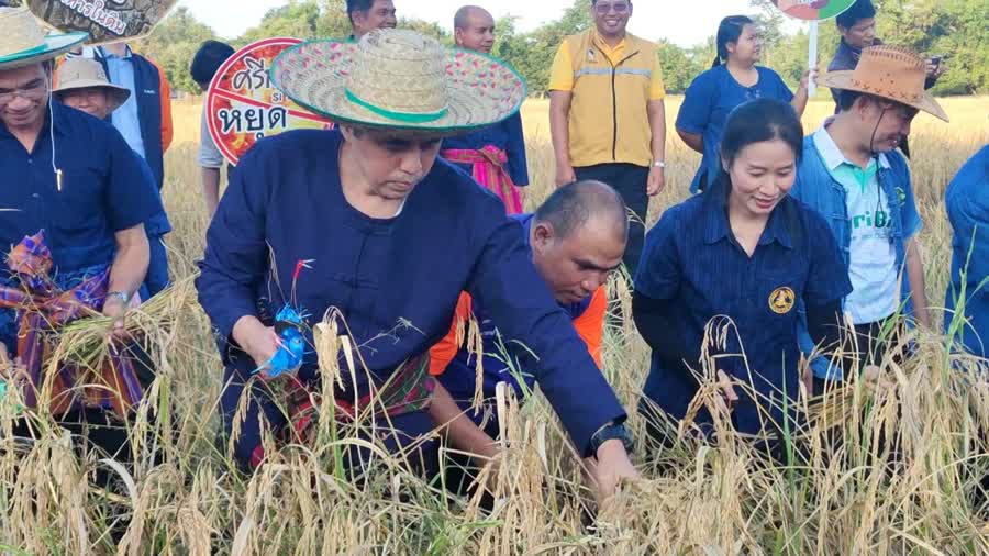
[{"label": "navy sleeve of large-hatted man's arm reaching down into the rice", "polygon": [[[493,218],[493,216],[491,216]],[[488,218],[488,221],[491,221]],[[593,434],[625,411],[598,369],[570,316],[556,304],[522,244],[521,224],[503,221],[484,242],[469,290],[505,340],[532,351],[533,374],[574,445],[590,456]]]}]

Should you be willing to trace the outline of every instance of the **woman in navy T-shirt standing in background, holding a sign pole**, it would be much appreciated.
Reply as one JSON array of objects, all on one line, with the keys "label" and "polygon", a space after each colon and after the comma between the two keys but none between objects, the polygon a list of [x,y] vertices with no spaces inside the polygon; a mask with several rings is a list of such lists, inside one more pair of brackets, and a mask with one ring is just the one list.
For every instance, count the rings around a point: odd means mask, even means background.
[{"label": "woman in navy T-shirt standing in background, holding a sign pole", "polygon": [[798,114],[807,108],[804,73],[794,96],[776,71],[756,66],[763,44],[756,24],[745,15],[721,20],[718,27],[718,57],[711,69],[697,76],[684,98],[677,115],[677,133],[690,148],[703,155],[701,166],[690,184],[696,193],[710,186],[720,166],[718,145],[725,120],[738,104],[755,99],[790,102]]}]

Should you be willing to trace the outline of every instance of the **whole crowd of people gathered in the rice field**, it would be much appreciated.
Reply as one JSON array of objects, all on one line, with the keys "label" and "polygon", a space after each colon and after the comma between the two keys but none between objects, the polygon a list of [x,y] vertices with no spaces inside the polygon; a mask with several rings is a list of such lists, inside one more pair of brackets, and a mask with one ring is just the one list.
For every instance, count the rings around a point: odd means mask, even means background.
[{"label": "whole crowd of people gathered in the rice field", "polygon": [[[716,57],[676,114],[679,140],[702,155],[691,194],[646,230],[667,186],[657,46],[626,31],[632,1],[588,9],[593,27],[553,60],[557,188],[530,213],[526,85],[491,57],[497,30],[480,7],[456,12],[451,48],[395,29],[392,0],[348,0],[352,36],[302,43],[271,68],[286,97],[334,124],[259,141],[229,168],[222,196],[224,157],[203,112],[211,224],[196,288],[225,369],[221,434],[246,471],[273,445],[315,442],[320,408],[333,403],[341,423],[374,415],[360,434],[424,475],[440,472],[441,444],[456,448],[448,483],[466,491],[501,446],[499,389],[525,400],[538,385],[607,497],[636,477],[636,446],[648,457],[673,445],[670,423],[688,416],[702,436],[726,419],[778,455],[782,431],[804,420],[793,401],[913,357],[901,341],[910,329],[941,326],[908,145],[920,112],[948,121],[927,92],[940,59],[880,42],[871,2],[858,0],[837,18],[827,71],[807,71],[793,91],[758,65],[756,23],[724,18]],[[126,319],[167,291],[171,231],[160,197],[167,79],[126,44],[86,40],[0,8],[0,383],[71,430],[125,421],[154,379],[131,356]],[[192,78],[208,90],[233,54],[204,43]],[[814,78],[834,114],[804,130]],[[976,149],[946,193],[944,326],[958,331],[954,349],[985,358],[989,147]],[[622,268],[631,314],[605,290]],[[46,366],[52,332],[97,313],[122,347],[98,369]],[[324,318],[349,338],[332,400],[313,348]],[[655,442],[635,442],[602,374],[610,319],[633,320],[652,349],[636,411]],[[712,345],[712,326],[732,333]],[[719,403],[698,410],[712,360]],[[34,434],[29,419],[14,432]],[[126,442],[100,437],[122,458]],[[352,469],[369,459],[360,446],[346,454]]]}]

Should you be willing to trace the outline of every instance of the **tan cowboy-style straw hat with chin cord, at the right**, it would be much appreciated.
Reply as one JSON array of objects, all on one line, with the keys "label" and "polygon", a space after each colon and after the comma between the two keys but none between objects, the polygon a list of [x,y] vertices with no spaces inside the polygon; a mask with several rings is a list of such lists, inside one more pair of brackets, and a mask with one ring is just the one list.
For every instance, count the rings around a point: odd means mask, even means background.
[{"label": "tan cowboy-style straw hat with chin cord, at the right", "polygon": [[820,82],[832,89],[889,99],[948,121],[947,113],[926,90],[926,60],[908,48],[890,45],[862,51],[854,70],[829,71]]}]

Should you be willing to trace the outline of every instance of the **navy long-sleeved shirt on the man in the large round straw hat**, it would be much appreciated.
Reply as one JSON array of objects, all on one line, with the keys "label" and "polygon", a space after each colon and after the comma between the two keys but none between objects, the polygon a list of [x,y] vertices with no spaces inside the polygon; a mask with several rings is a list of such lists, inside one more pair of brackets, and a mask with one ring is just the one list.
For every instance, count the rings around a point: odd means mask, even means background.
[{"label": "navy long-sleeved shirt on the man in the large round straw hat", "polygon": [[[311,260],[293,303],[310,315],[309,324],[337,308],[376,380],[445,336],[467,291],[507,338],[538,355],[533,372],[580,449],[601,425],[624,419],[533,266],[521,224],[504,215],[497,197],[437,159],[399,215],[368,218],[344,198],[342,142],[337,132],[288,132],[260,141],[241,160],[207,234],[197,280],[221,344],[244,315],[270,323],[292,292],[297,263]],[[221,349],[227,374],[253,369],[240,352]],[[314,359],[310,355],[300,369],[303,380],[315,376]],[[365,393],[366,372],[354,378]],[[351,377],[344,383],[349,388]]]}]

